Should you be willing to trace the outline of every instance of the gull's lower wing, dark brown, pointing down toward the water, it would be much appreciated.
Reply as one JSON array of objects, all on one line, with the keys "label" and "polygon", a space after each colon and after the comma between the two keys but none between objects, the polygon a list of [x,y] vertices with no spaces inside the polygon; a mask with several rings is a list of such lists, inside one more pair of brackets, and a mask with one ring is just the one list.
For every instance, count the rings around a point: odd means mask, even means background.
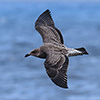
[{"label": "gull's lower wing, dark brown, pointing down toward the water", "polygon": [[51,54],[44,62],[46,72],[50,79],[58,86],[62,88],[68,88],[67,86],[67,68],[69,59],[64,55]]}]

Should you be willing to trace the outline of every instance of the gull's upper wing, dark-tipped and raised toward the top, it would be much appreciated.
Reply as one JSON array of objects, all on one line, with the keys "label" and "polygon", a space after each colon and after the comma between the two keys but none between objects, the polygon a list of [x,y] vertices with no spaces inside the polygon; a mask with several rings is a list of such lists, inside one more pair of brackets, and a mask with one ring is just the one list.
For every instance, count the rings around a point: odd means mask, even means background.
[{"label": "gull's upper wing, dark-tipped and raised toward the top", "polygon": [[35,29],[42,36],[44,43],[64,43],[62,34],[55,27],[49,10],[46,10],[38,17],[35,22]]}]

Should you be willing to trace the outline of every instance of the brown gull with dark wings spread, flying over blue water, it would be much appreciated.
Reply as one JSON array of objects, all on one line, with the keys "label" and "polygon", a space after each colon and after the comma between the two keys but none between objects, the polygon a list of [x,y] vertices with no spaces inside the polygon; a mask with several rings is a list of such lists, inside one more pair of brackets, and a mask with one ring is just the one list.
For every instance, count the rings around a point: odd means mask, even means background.
[{"label": "brown gull with dark wings spread, flying over blue water", "polygon": [[56,28],[49,9],[38,17],[35,29],[40,33],[43,45],[31,50],[25,57],[35,56],[45,59],[44,66],[51,81],[57,86],[67,89],[69,57],[88,55],[87,50],[84,47],[68,48],[64,45],[62,33]]}]

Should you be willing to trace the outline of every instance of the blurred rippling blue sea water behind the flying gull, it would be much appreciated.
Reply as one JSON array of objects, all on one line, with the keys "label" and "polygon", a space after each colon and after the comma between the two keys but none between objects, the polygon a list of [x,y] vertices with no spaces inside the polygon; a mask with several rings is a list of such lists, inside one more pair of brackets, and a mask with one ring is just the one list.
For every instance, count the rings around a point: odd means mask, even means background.
[{"label": "blurred rippling blue sea water behind the flying gull", "polygon": [[[89,52],[69,58],[68,89],[51,82],[45,60],[24,58],[43,44],[34,23],[46,9],[65,45]],[[0,1],[0,100],[100,100],[100,3]]]}]

